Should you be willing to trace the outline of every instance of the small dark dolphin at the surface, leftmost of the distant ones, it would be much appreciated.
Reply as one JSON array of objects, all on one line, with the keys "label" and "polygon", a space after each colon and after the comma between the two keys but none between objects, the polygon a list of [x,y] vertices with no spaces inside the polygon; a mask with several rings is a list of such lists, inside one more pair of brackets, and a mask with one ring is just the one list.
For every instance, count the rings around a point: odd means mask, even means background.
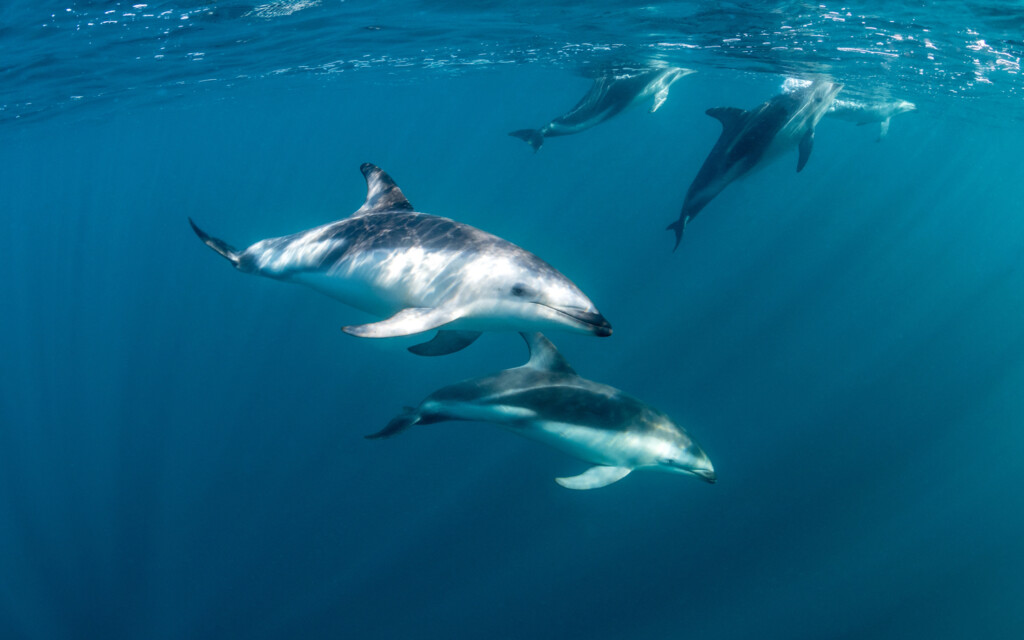
[{"label": "small dark dolphin at the surface, leftmost of the distant ones", "polygon": [[672,83],[692,73],[696,72],[681,67],[668,67],[602,76],[594,81],[590,91],[569,113],[555,118],[540,129],[520,129],[509,135],[525,140],[536,153],[544,144],[545,137],[580,133],[652,95],[654,103],[650,112],[654,113],[669,97]]}]

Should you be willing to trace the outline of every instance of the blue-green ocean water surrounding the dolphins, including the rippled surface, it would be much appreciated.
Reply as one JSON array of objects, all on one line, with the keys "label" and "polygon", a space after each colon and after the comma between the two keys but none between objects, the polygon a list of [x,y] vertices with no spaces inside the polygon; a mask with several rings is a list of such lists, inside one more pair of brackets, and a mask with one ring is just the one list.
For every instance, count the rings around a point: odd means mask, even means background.
[{"label": "blue-green ocean water surrounding the dolphins, including the rippled surface", "polygon": [[[1015,2],[5,2],[0,637],[1020,638],[1024,18]],[[609,69],[675,65],[534,154]],[[786,77],[918,111],[824,119],[665,226]],[[614,327],[550,335],[673,416],[718,482],[493,425],[371,441],[525,360],[339,331],[237,272],[347,216],[358,172],[532,251]]]}]

